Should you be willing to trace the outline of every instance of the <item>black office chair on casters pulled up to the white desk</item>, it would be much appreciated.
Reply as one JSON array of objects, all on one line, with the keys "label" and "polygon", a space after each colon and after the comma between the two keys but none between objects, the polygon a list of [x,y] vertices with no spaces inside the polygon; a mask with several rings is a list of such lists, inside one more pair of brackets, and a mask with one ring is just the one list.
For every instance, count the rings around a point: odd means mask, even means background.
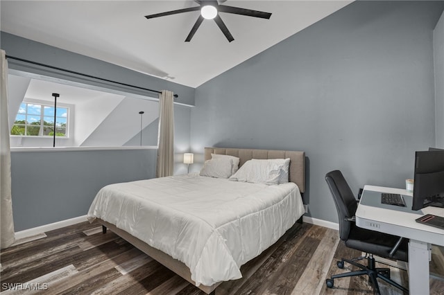
[{"label": "black office chair on casters pulled up to the white desk", "polygon": [[327,278],[325,282],[327,287],[333,287],[335,278],[366,274],[370,277],[370,283],[372,283],[377,294],[380,294],[377,278],[408,293],[408,289],[390,279],[390,269],[375,267],[375,258],[373,258],[374,254],[383,258],[407,261],[407,240],[395,235],[388,235],[386,233],[379,233],[378,231],[370,231],[358,227],[355,224],[355,213],[358,202],[341,171],[334,170],[328,172],[327,175],[325,175],[325,180],[330,188],[338,212],[339,238],[345,242],[345,246],[365,252],[367,258],[367,265],[361,265],[355,262],[362,258],[352,260],[341,258],[341,261],[337,262],[340,269],[344,267],[344,262],[348,262],[350,265],[359,267],[361,270],[331,276]]}]

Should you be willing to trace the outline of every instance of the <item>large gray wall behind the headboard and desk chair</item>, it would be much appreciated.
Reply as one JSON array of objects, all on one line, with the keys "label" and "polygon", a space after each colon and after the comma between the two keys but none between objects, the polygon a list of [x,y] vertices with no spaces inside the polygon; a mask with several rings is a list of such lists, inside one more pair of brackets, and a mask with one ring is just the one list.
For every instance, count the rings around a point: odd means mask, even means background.
[{"label": "large gray wall behind the headboard and desk chair", "polygon": [[325,174],[403,188],[435,145],[432,32],[444,2],[357,1],[196,89],[191,148],[304,150],[309,214],[337,222]]}]

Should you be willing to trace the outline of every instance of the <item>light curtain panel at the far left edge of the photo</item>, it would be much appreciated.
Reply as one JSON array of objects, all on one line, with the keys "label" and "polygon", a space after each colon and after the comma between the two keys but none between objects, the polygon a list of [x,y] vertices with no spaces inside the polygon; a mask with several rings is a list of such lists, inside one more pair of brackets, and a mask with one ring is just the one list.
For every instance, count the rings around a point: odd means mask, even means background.
[{"label": "light curtain panel at the far left edge of the photo", "polygon": [[11,151],[8,121],[8,62],[5,51],[0,57],[0,248],[9,247],[15,240],[11,200]]}]

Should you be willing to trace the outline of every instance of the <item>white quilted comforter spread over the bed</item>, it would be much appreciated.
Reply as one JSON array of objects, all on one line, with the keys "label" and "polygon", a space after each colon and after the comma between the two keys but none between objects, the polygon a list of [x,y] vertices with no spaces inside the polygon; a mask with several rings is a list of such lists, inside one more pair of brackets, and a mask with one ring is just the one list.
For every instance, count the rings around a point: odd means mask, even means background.
[{"label": "white quilted comforter spread over the bed", "polygon": [[187,265],[196,285],[241,278],[239,268],[304,214],[296,184],[180,175],[111,184],[87,214]]}]

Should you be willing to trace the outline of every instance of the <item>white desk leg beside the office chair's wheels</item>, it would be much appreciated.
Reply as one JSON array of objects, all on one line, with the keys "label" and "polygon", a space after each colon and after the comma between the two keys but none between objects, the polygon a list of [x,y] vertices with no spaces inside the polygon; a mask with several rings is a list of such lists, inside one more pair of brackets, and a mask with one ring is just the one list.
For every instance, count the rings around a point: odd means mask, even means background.
[{"label": "white desk leg beside the office chair's wheels", "polygon": [[409,241],[409,294],[429,295],[429,260],[431,245]]}]

